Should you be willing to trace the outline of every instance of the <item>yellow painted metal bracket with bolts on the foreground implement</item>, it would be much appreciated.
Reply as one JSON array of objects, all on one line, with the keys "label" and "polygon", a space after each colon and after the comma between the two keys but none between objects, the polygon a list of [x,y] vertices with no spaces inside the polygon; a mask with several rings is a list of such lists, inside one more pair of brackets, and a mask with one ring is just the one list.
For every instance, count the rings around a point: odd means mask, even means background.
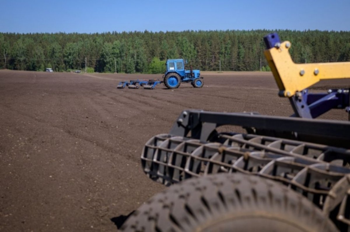
[{"label": "yellow painted metal bracket with bolts on the foreground implement", "polygon": [[350,62],[295,64],[289,55],[289,41],[265,50],[279,95],[291,97],[320,80],[350,78]]}]

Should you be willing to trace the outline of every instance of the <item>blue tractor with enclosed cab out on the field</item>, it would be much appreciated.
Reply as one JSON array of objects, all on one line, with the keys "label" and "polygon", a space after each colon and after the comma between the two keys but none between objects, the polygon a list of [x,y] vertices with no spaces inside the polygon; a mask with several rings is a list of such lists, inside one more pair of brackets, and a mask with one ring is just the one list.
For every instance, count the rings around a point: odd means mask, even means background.
[{"label": "blue tractor with enclosed cab out on the field", "polygon": [[163,75],[163,84],[168,89],[179,88],[181,82],[191,82],[195,88],[203,87],[203,77],[200,76],[200,70],[185,70],[183,59],[168,59],[167,71]]}]

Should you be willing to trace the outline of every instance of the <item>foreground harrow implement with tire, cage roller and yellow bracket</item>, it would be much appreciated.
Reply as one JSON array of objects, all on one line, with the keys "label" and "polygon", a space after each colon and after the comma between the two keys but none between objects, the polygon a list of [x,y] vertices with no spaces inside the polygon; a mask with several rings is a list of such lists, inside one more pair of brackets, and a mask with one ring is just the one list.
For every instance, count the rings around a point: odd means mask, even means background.
[{"label": "foreground harrow implement with tire, cage roller and yellow bracket", "polygon": [[[122,231],[350,232],[349,89],[310,93],[322,79],[350,78],[350,62],[295,64],[290,42],[264,38],[265,57],[292,117],[185,110],[146,143],[146,175],[169,189],[142,205]],[[246,133],[217,132],[222,125]]]}]

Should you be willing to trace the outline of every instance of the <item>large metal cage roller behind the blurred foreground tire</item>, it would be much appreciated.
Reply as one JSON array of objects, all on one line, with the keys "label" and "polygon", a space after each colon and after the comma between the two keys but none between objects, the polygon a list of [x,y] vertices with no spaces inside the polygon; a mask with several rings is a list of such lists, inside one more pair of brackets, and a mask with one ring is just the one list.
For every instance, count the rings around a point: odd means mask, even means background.
[{"label": "large metal cage roller behind the blurred foreground tire", "polygon": [[155,136],[144,147],[142,167],[166,186],[217,173],[261,176],[301,193],[327,215],[341,215],[343,227],[349,224],[350,150],[250,134],[219,134],[217,140],[222,138],[223,143]]}]

